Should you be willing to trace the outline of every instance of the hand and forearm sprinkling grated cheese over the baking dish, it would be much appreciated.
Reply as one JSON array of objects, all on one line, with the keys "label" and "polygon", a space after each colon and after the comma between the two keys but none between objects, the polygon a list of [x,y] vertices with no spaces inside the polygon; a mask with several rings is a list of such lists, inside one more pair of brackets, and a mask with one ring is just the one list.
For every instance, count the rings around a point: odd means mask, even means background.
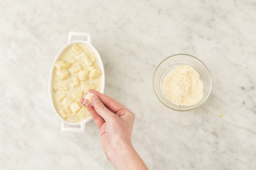
[{"label": "hand and forearm sprinkling grated cheese over the baking dish", "polygon": [[88,109],[100,130],[102,148],[116,169],[147,169],[143,160],[134,150],[131,133],[134,114],[114,99],[90,89],[93,106],[84,98],[80,102]]}]

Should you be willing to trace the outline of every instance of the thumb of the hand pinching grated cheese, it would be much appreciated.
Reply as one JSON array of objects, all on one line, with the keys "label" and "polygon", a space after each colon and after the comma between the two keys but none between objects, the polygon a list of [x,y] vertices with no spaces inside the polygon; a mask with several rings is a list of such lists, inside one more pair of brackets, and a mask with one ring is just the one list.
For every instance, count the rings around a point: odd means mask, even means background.
[{"label": "thumb of the hand pinching grated cheese", "polygon": [[113,114],[112,112],[109,111],[109,109],[106,108],[106,106],[100,101],[99,97],[97,95],[93,95],[91,97],[93,106],[95,111],[105,120],[108,121],[111,118],[113,118],[113,116],[115,114]]}]

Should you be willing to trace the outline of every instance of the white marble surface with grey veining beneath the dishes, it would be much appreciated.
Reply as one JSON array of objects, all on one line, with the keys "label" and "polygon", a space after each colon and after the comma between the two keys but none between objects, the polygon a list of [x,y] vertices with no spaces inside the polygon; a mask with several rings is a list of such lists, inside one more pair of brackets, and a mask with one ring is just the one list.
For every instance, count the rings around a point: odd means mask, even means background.
[{"label": "white marble surface with grey veining beneath the dishes", "polygon": [[[133,145],[150,169],[256,169],[254,0],[9,0],[0,26],[0,169],[114,169],[95,123],[63,133],[49,102],[49,71],[70,31],[91,33],[105,94],[136,114]],[[177,53],[212,76],[209,99],[189,112],[153,92],[156,66]]]}]

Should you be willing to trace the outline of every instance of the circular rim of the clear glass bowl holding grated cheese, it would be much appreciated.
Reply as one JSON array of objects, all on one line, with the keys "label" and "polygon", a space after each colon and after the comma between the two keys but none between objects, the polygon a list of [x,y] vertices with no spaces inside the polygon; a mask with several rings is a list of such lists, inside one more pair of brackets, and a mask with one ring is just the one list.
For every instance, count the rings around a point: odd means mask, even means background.
[{"label": "circular rim of the clear glass bowl holding grated cheese", "polygon": [[[162,63],[164,63],[166,60],[168,60],[169,58],[171,57],[174,57],[174,56],[177,56],[177,55],[185,55],[185,56],[188,56],[188,57],[191,57],[193,58],[194,60],[197,60],[199,63],[201,63],[205,68],[206,68],[206,71],[207,71],[207,75],[209,76],[209,80],[210,80],[210,86],[209,86],[209,92],[207,94],[207,96],[205,96],[200,102],[198,102],[197,104],[194,104],[194,105],[191,105],[191,106],[177,106],[175,104],[172,104],[169,100],[166,101],[165,99],[162,99],[162,97],[160,97],[160,92],[157,91],[157,85],[160,84],[160,82],[158,81],[155,81],[155,79],[157,79],[156,77],[156,72],[158,71],[159,67],[162,65]],[[197,70],[197,69],[196,69]],[[198,71],[198,70],[197,70]],[[161,88],[161,87],[160,87]],[[157,97],[157,99],[163,104],[165,105],[166,107],[170,108],[170,109],[173,109],[175,111],[190,111],[200,105],[202,105],[209,97],[210,93],[211,93],[211,89],[212,89],[212,79],[211,79],[211,75],[210,75],[210,72],[209,72],[209,69],[208,67],[197,57],[193,56],[193,55],[189,55],[189,54],[174,54],[174,55],[171,55],[167,58],[165,58],[163,61],[161,61],[158,66],[156,67],[156,70],[154,72],[154,76],[153,76],[153,89],[154,89],[154,93]],[[164,94],[163,94],[164,95]],[[173,106],[170,106],[166,103],[169,103],[169,104],[172,104]]]}]

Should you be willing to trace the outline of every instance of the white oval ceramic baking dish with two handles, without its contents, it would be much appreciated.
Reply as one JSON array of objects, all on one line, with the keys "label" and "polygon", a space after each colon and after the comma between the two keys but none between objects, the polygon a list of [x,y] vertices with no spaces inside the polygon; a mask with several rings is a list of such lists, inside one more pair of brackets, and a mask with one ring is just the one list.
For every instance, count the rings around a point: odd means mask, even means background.
[{"label": "white oval ceramic baking dish with two handles, without its contents", "polygon": [[[85,39],[87,38],[87,40],[72,40],[72,37],[84,37]],[[50,97],[50,101],[51,101],[51,105],[53,107],[53,110],[55,112],[55,114],[58,116],[58,118],[61,120],[61,131],[62,132],[79,132],[79,133],[83,133],[85,130],[85,124],[88,123],[92,118],[91,116],[89,116],[87,119],[83,120],[82,122],[79,123],[70,123],[64,119],[62,119],[60,117],[60,115],[58,114],[55,106],[54,106],[54,102],[53,102],[53,96],[52,96],[52,80],[53,80],[53,70],[54,70],[54,64],[55,62],[58,60],[58,58],[60,57],[60,55],[68,48],[70,47],[72,44],[75,43],[84,43],[87,46],[89,46],[94,52],[95,52],[95,56],[97,57],[97,60],[99,61],[100,67],[101,67],[101,71],[102,71],[102,77],[101,77],[101,93],[104,92],[104,87],[105,87],[105,73],[104,73],[104,67],[103,67],[103,63],[100,57],[100,54],[98,53],[98,51],[94,48],[94,46],[91,45],[91,35],[90,33],[86,33],[86,32],[70,32],[69,33],[69,39],[68,39],[68,44],[66,44],[64,47],[61,48],[61,50],[59,51],[59,53],[57,54],[57,56],[55,57],[55,60],[53,62],[52,68],[51,68],[51,73],[50,73],[50,77],[49,77],[49,97]]]}]

